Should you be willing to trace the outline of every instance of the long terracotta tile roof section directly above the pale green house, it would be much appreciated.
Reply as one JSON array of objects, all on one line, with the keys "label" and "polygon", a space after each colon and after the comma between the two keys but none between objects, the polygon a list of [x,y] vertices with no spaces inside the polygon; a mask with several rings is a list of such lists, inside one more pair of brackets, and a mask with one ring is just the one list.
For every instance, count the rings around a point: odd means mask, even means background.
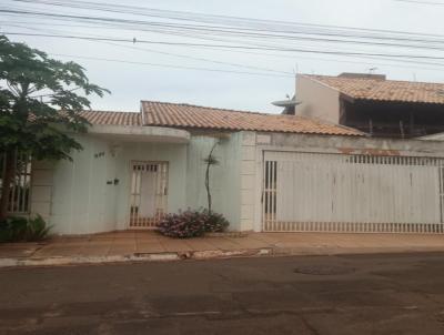
[{"label": "long terracotta tile roof section directly above the pale green house", "polygon": [[363,133],[350,128],[294,115],[242,112],[154,101],[142,101],[142,111],[144,113],[144,125],[182,129],[363,135]]}]

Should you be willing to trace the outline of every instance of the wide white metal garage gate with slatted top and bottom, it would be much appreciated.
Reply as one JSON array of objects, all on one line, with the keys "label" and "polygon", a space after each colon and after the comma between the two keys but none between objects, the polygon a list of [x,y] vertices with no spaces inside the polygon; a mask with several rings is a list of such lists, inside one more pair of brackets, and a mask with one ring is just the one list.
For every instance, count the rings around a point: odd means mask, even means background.
[{"label": "wide white metal garage gate with slatted top and bottom", "polygon": [[444,160],[266,152],[263,230],[444,233]]}]

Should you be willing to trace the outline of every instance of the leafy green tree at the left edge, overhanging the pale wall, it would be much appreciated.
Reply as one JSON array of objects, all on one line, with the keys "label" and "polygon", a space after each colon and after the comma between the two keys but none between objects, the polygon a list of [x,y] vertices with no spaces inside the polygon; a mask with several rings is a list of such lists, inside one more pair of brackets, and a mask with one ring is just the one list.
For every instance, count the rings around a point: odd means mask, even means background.
[{"label": "leafy green tree at the left edge, overhanging the pale wall", "polygon": [[17,153],[71,160],[70,152],[82,146],[68,133],[85,132],[89,125],[80,114],[90,108],[85,97],[104,92],[89,82],[81,65],[0,35],[0,154],[6,166],[0,221],[7,215]]}]

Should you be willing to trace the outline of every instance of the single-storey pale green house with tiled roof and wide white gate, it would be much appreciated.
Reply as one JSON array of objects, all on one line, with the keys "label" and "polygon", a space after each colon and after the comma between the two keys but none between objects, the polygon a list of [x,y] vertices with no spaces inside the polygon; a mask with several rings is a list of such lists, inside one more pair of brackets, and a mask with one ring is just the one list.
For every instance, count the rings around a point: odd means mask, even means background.
[{"label": "single-storey pale green house with tiled roof and wide white gate", "polygon": [[140,112],[83,115],[92,126],[72,134],[84,148],[72,162],[34,161],[18,176],[31,189],[19,210],[40,213],[59,234],[152,229],[164,213],[206,206],[203,160],[214,143],[213,209],[231,230],[444,232],[437,141],[152,101]]}]

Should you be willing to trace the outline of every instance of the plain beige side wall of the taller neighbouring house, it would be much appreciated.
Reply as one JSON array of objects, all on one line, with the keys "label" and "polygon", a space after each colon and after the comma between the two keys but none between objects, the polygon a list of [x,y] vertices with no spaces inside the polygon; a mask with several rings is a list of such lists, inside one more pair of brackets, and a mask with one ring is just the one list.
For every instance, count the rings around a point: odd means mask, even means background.
[{"label": "plain beige side wall of the taller neighbouring house", "polygon": [[340,122],[340,92],[303,74],[296,78],[296,115]]}]

